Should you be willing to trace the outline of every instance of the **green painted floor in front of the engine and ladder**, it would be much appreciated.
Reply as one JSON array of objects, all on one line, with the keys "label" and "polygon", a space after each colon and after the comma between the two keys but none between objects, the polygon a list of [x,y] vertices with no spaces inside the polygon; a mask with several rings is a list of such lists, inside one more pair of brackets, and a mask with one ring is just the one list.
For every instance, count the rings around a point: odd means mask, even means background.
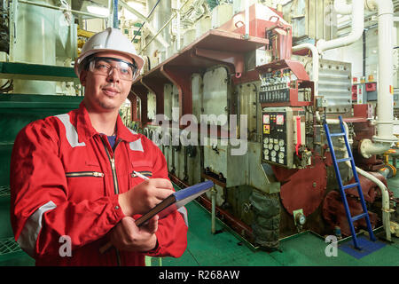
[{"label": "green painted floor in front of the engine and ladder", "polygon": [[[393,244],[356,259],[340,250],[337,256],[325,256],[328,245],[317,235],[306,232],[286,241],[280,241],[280,251],[267,253],[253,250],[245,242],[229,233],[217,220],[216,230],[211,233],[210,214],[193,201],[186,205],[189,214],[188,246],[180,258],[162,258],[162,266],[398,266],[399,239]],[[346,240],[351,241],[351,239]],[[159,260],[153,258],[153,265]]]}]

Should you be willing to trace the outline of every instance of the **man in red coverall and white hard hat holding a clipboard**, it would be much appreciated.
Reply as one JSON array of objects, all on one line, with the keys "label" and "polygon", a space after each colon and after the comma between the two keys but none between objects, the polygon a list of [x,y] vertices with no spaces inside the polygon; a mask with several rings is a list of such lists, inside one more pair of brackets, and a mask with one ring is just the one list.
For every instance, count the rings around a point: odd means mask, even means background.
[{"label": "man in red coverall and white hard hat holding a clipboard", "polygon": [[184,253],[185,209],[134,222],[173,193],[160,149],[118,113],[141,67],[120,30],[92,36],[74,66],[85,87],[79,109],[29,123],[15,139],[12,229],[36,265],[144,265]]}]

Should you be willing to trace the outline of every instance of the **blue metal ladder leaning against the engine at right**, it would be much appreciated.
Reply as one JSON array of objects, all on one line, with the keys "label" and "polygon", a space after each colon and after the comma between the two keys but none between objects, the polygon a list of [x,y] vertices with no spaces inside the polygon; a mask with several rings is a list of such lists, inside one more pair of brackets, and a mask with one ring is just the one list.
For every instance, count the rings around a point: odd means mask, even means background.
[{"label": "blue metal ladder leaning against the engine at right", "polygon": [[[330,134],[330,130],[328,129],[328,124],[325,122],[325,136],[327,138],[328,141],[328,146],[330,146],[330,151],[331,151],[331,155],[332,155],[332,162],[334,165],[334,170],[335,170],[335,175],[337,177],[338,180],[338,184],[340,185],[340,196],[342,197],[342,201],[344,203],[344,207],[345,207],[345,212],[347,213],[347,218],[348,218],[348,224],[350,227],[350,232],[352,233],[352,240],[353,243],[355,245],[355,248],[357,249],[361,249],[358,245],[357,242],[357,238],[356,238],[356,232],[355,232],[355,227],[353,225],[353,222],[361,219],[361,218],[365,218],[366,223],[367,223],[367,231],[369,232],[369,236],[370,239],[372,241],[376,241],[374,234],[372,233],[372,225],[370,224],[370,217],[369,217],[369,212],[367,211],[367,207],[365,205],[364,202],[364,196],[363,196],[363,192],[362,192],[362,187],[360,185],[359,182],[359,177],[357,176],[357,172],[356,172],[356,165],[355,165],[355,160],[353,159],[353,154],[352,151],[350,150],[350,146],[348,143],[348,137],[347,137],[347,133],[345,131],[345,127],[343,125],[342,122],[342,116],[340,116],[340,133],[332,133]],[[334,148],[332,146],[332,137],[343,137],[345,139],[345,146],[347,147],[347,151],[348,151],[348,158],[344,158],[344,159],[338,159],[335,156],[335,151]],[[355,177],[355,184],[350,184],[350,185],[342,185],[342,180],[340,177],[340,169],[338,168],[338,163],[339,162],[348,162],[350,161],[351,165],[352,165],[352,172],[353,172],[353,176]],[[357,193],[359,193],[359,198],[360,198],[360,202],[362,203],[362,208],[363,208],[363,213],[360,215],[357,215],[355,217],[352,217],[350,215],[350,210],[348,207],[348,201],[347,201],[347,196],[345,193],[345,190],[347,190],[348,188],[352,188],[352,187],[357,187]]]}]

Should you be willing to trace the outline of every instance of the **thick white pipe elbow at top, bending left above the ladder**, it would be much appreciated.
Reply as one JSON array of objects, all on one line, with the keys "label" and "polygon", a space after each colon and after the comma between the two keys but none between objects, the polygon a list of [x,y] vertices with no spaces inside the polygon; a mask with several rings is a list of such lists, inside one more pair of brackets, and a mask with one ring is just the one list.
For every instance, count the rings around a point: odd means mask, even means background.
[{"label": "thick white pipe elbow at top, bending left above the ladder", "polygon": [[317,42],[317,49],[320,54],[327,50],[355,43],[360,37],[362,37],[364,31],[364,0],[353,0],[350,6],[352,10],[351,32],[348,36],[335,38],[330,41],[319,40]]}]

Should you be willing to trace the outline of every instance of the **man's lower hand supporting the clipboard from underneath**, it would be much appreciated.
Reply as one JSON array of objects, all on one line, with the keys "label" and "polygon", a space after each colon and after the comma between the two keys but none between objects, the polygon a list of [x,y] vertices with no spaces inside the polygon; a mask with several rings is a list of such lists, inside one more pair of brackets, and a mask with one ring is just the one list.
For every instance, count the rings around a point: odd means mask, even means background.
[{"label": "man's lower hand supporting the clipboard from underneath", "polygon": [[158,230],[158,215],[152,217],[146,225],[137,227],[135,219],[124,217],[111,232],[111,243],[115,248],[127,251],[145,252],[155,248]]}]

